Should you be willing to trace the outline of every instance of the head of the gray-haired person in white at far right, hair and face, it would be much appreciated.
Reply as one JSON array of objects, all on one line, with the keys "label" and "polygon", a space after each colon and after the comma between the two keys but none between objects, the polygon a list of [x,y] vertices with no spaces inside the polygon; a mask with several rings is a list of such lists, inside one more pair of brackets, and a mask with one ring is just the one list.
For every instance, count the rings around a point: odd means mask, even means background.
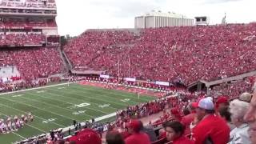
[{"label": "head of the gray-haired person in white at far right, hair and face", "polygon": [[242,123],[245,123],[243,117],[246,114],[246,111],[249,108],[248,102],[243,102],[238,99],[230,102],[230,114],[231,114],[231,121],[233,122],[234,126],[241,126]]}]

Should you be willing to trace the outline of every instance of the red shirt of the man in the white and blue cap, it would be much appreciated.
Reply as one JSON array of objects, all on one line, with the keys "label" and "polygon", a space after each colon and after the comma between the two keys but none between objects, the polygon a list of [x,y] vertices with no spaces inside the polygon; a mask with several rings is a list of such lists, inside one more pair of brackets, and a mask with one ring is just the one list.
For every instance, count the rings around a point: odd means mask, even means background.
[{"label": "red shirt of the man in the white and blue cap", "polygon": [[226,144],[230,139],[230,127],[214,114],[207,116],[193,129],[194,143],[203,144],[210,138],[214,144]]}]

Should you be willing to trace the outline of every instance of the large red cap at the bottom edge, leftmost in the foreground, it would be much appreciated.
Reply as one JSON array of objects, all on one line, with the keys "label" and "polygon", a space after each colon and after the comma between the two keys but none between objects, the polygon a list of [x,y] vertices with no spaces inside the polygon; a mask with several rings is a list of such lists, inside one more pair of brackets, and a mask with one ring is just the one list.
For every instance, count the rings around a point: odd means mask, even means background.
[{"label": "large red cap at the bottom edge, leftmost in the foreground", "polygon": [[76,144],[102,144],[102,139],[94,130],[90,129],[82,130],[77,136],[71,137],[70,141],[74,141]]}]

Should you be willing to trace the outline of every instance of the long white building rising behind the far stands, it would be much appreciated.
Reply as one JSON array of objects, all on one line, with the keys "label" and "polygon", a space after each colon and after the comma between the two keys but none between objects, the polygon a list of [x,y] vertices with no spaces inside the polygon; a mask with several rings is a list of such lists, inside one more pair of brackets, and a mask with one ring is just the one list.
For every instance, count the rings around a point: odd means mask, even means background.
[{"label": "long white building rising behind the far stands", "polygon": [[142,16],[135,17],[135,28],[158,28],[165,26],[194,26],[193,18],[186,18],[182,14],[162,13],[151,11]]}]

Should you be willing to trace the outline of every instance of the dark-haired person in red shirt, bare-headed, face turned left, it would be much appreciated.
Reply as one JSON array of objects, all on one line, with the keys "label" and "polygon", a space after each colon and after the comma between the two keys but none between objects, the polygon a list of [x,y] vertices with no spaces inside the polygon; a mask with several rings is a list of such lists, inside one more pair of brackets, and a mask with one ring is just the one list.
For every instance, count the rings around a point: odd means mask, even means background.
[{"label": "dark-haired person in red shirt, bare-headed, face turned left", "polygon": [[189,138],[184,136],[185,126],[181,122],[172,121],[166,122],[166,138],[173,144],[193,144]]}]

